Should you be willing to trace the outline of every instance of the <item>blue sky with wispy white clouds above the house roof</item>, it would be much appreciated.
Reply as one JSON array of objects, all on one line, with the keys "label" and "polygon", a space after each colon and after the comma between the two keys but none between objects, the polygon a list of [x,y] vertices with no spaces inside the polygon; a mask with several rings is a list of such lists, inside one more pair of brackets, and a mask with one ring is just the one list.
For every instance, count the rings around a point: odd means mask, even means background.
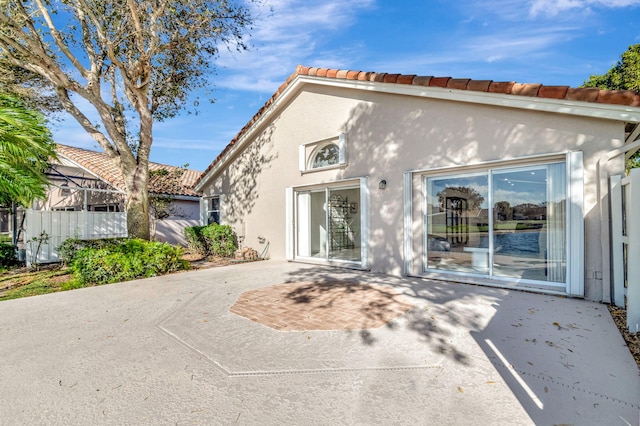
[{"label": "blue sky with wispy white clouds above the house roof", "polygon": [[[224,50],[215,103],[154,127],[151,160],[204,170],[297,64],[579,86],[640,43],[640,0],[266,0]],[[56,142],[100,150],[67,118]]]}]

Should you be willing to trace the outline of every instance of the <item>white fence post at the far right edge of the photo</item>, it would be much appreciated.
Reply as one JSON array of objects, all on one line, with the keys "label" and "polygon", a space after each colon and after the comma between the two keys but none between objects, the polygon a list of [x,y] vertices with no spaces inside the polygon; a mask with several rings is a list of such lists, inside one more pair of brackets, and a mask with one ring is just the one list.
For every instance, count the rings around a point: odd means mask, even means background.
[{"label": "white fence post at the far right edge of the photo", "polygon": [[640,169],[631,169],[627,202],[627,327],[640,328]]}]

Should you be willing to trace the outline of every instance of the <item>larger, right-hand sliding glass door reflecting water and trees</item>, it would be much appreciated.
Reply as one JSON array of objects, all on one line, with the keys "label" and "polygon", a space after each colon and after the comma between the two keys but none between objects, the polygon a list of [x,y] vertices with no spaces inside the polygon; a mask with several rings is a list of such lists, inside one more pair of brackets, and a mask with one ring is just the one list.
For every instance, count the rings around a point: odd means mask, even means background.
[{"label": "larger, right-hand sliding glass door reflecting water and trees", "polygon": [[426,178],[426,269],[562,284],[564,163]]}]

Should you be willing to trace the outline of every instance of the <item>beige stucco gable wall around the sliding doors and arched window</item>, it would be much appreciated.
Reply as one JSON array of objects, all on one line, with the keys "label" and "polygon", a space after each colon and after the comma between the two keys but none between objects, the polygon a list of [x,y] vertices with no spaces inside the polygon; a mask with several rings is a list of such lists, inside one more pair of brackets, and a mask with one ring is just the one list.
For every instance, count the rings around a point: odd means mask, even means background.
[{"label": "beige stucco gable wall around the sliding doors and arched window", "polygon": [[[339,133],[347,135],[348,166],[301,174],[298,146]],[[401,274],[403,172],[582,151],[586,296],[599,300],[603,262],[596,163],[621,146],[623,137],[623,124],[612,121],[306,86],[205,193],[225,194],[224,222],[243,229],[246,246],[261,251],[260,241],[267,240],[271,258],[284,258],[285,188],[368,177],[371,269]],[[609,170],[620,173],[622,162],[611,162]],[[381,179],[387,181],[385,190],[378,189]],[[420,195],[414,191],[414,196],[414,228],[421,230]]]}]

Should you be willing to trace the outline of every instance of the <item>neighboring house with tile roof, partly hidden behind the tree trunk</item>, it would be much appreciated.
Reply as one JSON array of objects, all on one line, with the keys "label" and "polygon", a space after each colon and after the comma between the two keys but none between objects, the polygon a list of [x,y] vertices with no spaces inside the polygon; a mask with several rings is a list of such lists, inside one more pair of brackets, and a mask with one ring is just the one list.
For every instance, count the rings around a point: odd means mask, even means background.
[{"label": "neighboring house with tile roof, partly hidden behind the tree trunk", "polygon": [[[58,162],[47,176],[48,198],[40,210],[124,211],[122,173],[105,153],[57,144]],[[193,187],[201,172],[149,163],[152,236],[183,244],[182,229],[200,222],[200,196]],[[155,209],[154,209],[155,207]]]}]

